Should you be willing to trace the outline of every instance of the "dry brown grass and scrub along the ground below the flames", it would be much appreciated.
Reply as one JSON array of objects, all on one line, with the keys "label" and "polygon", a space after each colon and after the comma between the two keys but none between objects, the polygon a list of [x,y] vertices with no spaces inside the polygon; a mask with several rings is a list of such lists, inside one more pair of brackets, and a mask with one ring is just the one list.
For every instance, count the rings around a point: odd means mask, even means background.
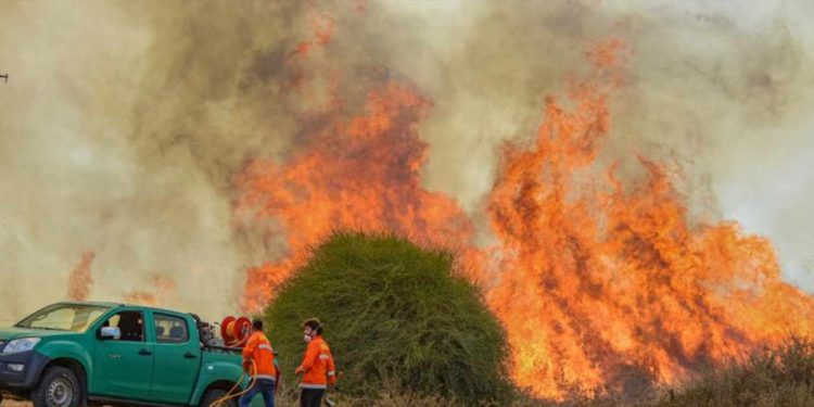
[{"label": "dry brown grass and scrub along the ground below the flames", "polygon": [[[441,396],[405,393],[397,386],[385,387],[371,397],[330,397],[343,407],[446,407],[471,406]],[[277,406],[298,406],[298,389],[284,386]],[[506,405],[506,404],[504,404]],[[2,407],[30,407],[30,403],[5,400]],[[487,405],[483,405],[487,406]],[[814,406],[814,342],[791,340],[776,349],[766,349],[738,364],[709,370],[683,386],[656,391],[637,400],[623,397],[580,398],[546,403],[516,399],[512,407],[803,407]]]}]

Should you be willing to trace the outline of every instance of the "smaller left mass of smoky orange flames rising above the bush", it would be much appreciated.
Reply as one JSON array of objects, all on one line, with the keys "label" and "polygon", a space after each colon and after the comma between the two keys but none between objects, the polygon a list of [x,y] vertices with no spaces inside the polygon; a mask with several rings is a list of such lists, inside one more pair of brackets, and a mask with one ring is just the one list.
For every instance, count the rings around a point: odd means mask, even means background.
[{"label": "smaller left mass of smoky orange flames rising above the bush", "polygon": [[[332,230],[393,231],[421,243],[451,246],[473,233],[457,203],[421,186],[427,143],[416,124],[429,102],[391,82],[368,97],[365,113],[313,135],[302,152],[279,165],[251,162],[238,177],[239,218],[275,218],[295,256]],[[244,307],[271,298],[296,262],[250,269]]]}]

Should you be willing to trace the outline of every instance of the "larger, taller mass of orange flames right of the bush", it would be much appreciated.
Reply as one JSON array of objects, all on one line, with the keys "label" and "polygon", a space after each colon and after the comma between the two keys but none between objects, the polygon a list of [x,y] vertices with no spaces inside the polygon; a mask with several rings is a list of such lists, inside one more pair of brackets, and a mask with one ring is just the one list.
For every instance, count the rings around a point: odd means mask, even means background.
[{"label": "larger, taller mass of orange flames right of the bush", "polygon": [[[609,52],[595,53],[595,74],[615,63]],[[809,335],[814,301],[780,280],[767,241],[734,222],[690,226],[667,171],[647,158],[648,177],[629,193],[613,168],[605,185],[592,176],[609,89],[580,84],[572,110],[549,99],[536,145],[506,148],[489,195],[503,274],[488,301],[514,381],[554,399],[624,391],[631,372],[674,382],[702,363]]]}]

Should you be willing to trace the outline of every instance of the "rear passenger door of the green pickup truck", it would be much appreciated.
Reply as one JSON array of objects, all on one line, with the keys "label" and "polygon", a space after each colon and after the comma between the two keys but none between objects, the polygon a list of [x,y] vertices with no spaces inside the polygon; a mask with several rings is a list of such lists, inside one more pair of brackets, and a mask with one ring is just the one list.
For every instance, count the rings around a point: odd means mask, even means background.
[{"label": "rear passenger door of the green pickup truck", "polygon": [[192,332],[189,318],[153,313],[155,364],[151,399],[162,403],[189,402],[201,368],[198,331]]}]

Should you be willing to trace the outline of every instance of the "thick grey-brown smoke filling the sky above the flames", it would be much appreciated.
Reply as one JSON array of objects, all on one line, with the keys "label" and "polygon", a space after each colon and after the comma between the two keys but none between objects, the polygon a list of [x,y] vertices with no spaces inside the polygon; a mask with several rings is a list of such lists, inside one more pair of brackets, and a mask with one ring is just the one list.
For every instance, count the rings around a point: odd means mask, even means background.
[{"label": "thick grey-brown smoke filling the sky above the flames", "polygon": [[[767,234],[788,276],[814,289],[802,272],[814,255],[804,2],[0,8],[0,72],[11,75],[0,82],[0,318],[64,298],[86,251],[97,254],[93,298],[143,291],[207,316],[234,310],[243,269],[284,247],[262,225],[234,227],[232,177],[247,158],[296,153],[322,126],[315,112],[333,78],[351,112],[387,79],[432,99],[425,183],[478,219],[496,148],[532,137],[544,96],[609,36],[631,52],[605,158],[633,176],[636,153],[681,166],[699,219]],[[297,63],[292,51],[320,30],[332,40]]]}]

